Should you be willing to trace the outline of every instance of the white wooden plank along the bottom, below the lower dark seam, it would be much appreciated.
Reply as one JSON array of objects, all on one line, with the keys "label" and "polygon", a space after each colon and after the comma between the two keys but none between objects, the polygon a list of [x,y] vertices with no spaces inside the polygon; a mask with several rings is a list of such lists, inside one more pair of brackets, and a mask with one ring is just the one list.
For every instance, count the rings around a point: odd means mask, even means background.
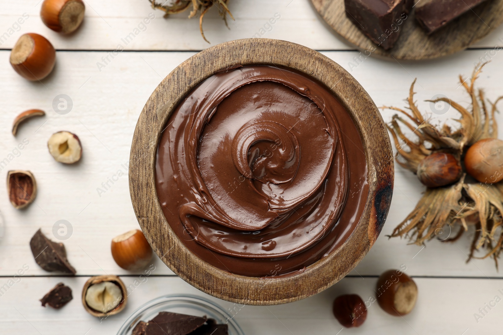
[{"label": "white wooden plank along the bottom, below the lower dark seam", "polygon": [[[120,314],[100,320],[88,314],[79,299],[86,280],[86,277],[22,277],[0,296],[2,333],[111,335],[136,308],[153,298],[164,294],[196,294],[229,311],[246,334],[336,334],[343,327],[332,316],[332,301],[340,294],[356,293],[369,302],[367,319],[361,327],[351,329],[354,334],[464,332],[469,335],[490,333],[499,328],[501,302],[495,303],[494,299],[496,296],[498,301],[503,298],[503,280],[500,279],[414,278],[419,290],[417,304],[410,314],[397,317],[385,313],[376,302],[370,303],[370,297],[376,296],[376,278],[347,277],[320,294],[286,305],[243,306],[212,298],[178,277],[151,276],[142,278],[143,282],[138,277],[122,277],[125,285],[131,287],[128,305]],[[1,285],[7,281],[8,278],[0,278]],[[38,299],[60,281],[72,288],[73,300],[60,310],[41,307]],[[489,309],[486,304],[493,307]],[[480,317],[476,318],[475,313]],[[344,329],[341,333],[347,331],[349,329]]]}]

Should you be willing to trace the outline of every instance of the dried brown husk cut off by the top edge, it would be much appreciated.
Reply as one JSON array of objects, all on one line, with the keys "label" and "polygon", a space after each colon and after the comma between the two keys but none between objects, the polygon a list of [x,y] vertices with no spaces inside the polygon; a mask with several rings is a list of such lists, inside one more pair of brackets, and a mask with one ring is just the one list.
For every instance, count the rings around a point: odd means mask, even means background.
[{"label": "dried brown husk cut off by the top edge", "polygon": [[163,4],[156,3],[155,0],[148,1],[152,5],[152,8],[164,12],[164,18],[167,18],[170,14],[182,13],[192,5],[192,11],[189,14],[189,19],[195,17],[198,12],[200,13],[199,30],[201,31],[201,36],[208,43],[210,42],[206,39],[203,32],[203,17],[206,12],[208,12],[210,7],[212,7],[213,5],[216,5],[218,7],[218,10],[220,11],[219,15],[223,18],[225,26],[228,27],[227,15],[229,15],[230,18],[234,20],[232,13],[230,13],[229,8],[227,7],[229,0],[172,0],[171,2],[168,0]]}]

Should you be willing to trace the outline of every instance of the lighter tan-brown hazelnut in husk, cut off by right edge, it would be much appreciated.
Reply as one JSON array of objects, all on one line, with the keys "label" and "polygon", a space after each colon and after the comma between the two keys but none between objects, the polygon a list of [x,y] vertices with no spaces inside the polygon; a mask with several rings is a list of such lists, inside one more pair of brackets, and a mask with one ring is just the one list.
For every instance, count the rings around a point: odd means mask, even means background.
[{"label": "lighter tan-brown hazelnut in husk, cut off by right edge", "polygon": [[483,139],[465,154],[465,168],[481,183],[493,184],[503,179],[503,141]]}]

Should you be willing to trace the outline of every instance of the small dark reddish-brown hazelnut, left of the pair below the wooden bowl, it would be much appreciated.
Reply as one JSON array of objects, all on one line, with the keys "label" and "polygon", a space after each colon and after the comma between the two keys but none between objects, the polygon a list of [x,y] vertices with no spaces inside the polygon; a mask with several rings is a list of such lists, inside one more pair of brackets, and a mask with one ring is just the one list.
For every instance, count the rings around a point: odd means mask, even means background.
[{"label": "small dark reddish-brown hazelnut, left of the pair below the wooden bowl", "polygon": [[344,294],[333,300],[333,316],[345,327],[359,327],[367,319],[367,308],[359,295]]}]

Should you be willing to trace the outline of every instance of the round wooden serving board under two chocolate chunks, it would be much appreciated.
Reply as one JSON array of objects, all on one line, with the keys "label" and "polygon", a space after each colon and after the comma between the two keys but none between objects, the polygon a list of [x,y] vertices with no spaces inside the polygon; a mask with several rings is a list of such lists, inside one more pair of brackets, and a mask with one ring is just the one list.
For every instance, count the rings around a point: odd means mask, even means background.
[{"label": "round wooden serving board under two chocolate chunks", "polygon": [[400,37],[395,46],[386,51],[346,17],[344,0],[310,1],[335,32],[362,50],[365,56],[395,60],[431,59],[453,54],[482,39],[503,22],[503,0],[488,0],[428,36],[417,24],[412,10],[399,26]]}]

